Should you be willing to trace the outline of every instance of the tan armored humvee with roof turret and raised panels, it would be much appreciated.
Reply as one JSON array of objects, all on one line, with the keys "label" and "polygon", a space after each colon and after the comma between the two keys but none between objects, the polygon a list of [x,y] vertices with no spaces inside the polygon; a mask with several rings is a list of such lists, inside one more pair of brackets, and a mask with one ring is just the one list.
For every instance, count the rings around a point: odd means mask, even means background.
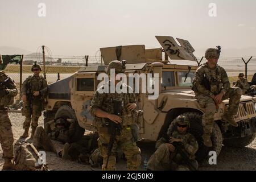
[{"label": "tan armored humvee with roof turret and raised panels", "polygon": [[[253,142],[256,137],[256,98],[242,96],[239,110],[235,117],[238,127],[222,122],[221,117],[226,112],[228,100],[218,106],[214,115],[212,134],[213,147],[206,147],[201,138],[203,127],[202,115],[205,108],[201,108],[196,101],[195,93],[191,90],[197,66],[171,64],[170,60],[197,61],[193,55],[195,51],[187,40],[171,36],[156,36],[161,48],[145,49],[144,45],[101,48],[104,64],[81,68],[72,76],[49,85],[44,122],[52,118],[73,118],[77,122],[76,134],[72,140],[79,139],[84,131],[94,131],[93,117],[90,115],[90,102],[97,85],[100,73],[112,60],[126,60],[126,74],[152,73],[159,74],[157,86],[159,96],[155,100],[148,99],[151,93],[135,94],[138,109],[143,110],[143,121],[140,123],[140,137],[156,141],[166,134],[172,121],[179,115],[185,115],[191,122],[189,132],[198,143],[197,159],[203,159],[211,150],[220,154],[222,143],[226,146],[244,147]],[[140,87],[142,82],[140,82]]]}]

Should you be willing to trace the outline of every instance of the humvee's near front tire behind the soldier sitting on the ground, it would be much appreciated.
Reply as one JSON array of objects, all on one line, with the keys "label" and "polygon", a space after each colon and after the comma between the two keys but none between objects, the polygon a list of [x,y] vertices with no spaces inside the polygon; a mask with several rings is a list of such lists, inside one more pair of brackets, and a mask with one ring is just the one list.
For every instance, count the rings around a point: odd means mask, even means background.
[{"label": "humvee's near front tire behind the soldier sitting on the ground", "polygon": [[[198,161],[202,161],[207,159],[209,151],[216,151],[216,154],[220,154],[221,147],[222,147],[222,134],[221,130],[218,127],[217,123],[214,123],[213,126],[213,133],[212,133],[212,147],[207,147],[204,145],[203,142],[203,126],[201,125],[202,121],[202,114],[197,112],[187,112],[181,114],[188,118],[190,121],[189,133],[191,133],[197,140],[199,144],[199,150],[196,152],[196,159]],[[176,118],[174,119],[175,122]],[[172,127],[172,124],[170,125]]]}]

